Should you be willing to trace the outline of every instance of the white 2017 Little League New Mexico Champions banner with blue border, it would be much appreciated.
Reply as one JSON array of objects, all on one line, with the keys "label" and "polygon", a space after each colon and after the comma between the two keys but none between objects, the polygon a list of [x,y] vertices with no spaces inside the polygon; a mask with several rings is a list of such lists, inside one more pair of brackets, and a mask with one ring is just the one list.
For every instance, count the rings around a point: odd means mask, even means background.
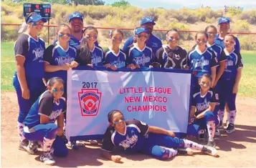
[{"label": "white 2017 Little League New Mexico Champions banner with blue border", "polygon": [[99,139],[108,112],[125,119],[186,133],[191,74],[175,69],[120,69],[80,66],[67,72],[67,137]]}]

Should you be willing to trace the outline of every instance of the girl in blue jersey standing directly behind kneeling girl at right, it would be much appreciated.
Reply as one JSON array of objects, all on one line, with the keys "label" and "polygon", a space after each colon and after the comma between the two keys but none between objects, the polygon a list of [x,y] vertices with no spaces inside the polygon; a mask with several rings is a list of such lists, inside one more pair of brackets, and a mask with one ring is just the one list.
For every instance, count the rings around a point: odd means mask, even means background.
[{"label": "girl in blue jersey standing directly behind kneeling girl at right", "polygon": [[217,57],[212,51],[207,47],[208,34],[204,31],[196,33],[196,47],[189,51],[186,57],[186,65],[192,71],[194,76],[193,87],[198,86],[198,79],[202,74],[212,75],[212,86],[215,81],[216,67],[218,66]]}]

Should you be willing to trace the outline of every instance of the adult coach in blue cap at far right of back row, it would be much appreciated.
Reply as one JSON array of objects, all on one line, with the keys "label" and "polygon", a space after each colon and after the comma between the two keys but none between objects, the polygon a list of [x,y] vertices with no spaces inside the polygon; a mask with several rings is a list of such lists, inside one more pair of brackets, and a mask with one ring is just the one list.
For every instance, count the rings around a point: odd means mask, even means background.
[{"label": "adult coach in blue cap at far right of back row", "polygon": [[[216,35],[214,42],[218,44],[219,46],[224,46],[224,37],[229,34],[229,29],[230,29],[230,19],[227,17],[220,17],[218,21],[218,29],[219,29],[219,34]],[[234,49],[240,53],[240,42],[235,37],[234,40]]]}]

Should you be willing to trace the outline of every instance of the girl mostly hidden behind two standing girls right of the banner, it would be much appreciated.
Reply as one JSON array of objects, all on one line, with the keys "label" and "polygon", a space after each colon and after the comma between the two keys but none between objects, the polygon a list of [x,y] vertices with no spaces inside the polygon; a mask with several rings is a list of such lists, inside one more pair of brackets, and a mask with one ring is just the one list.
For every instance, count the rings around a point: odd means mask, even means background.
[{"label": "girl mostly hidden behind two standing girls right of the banner", "polygon": [[[209,36],[207,46],[209,47],[209,49],[212,49],[212,51],[214,51],[214,53],[217,56],[218,62],[219,62],[219,66],[217,66],[216,78],[215,78],[215,81],[213,84],[215,92],[217,92],[219,94],[221,86],[219,85],[218,81],[224,72],[227,58],[224,54],[224,50],[223,50],[222,46],[219,46],[218,44],[216,44],[214,42],[215,36],[217,34],[217,28],[213,25],[210,25],[210,26],[207,26],[207,28],[205,29],[205,32]],[[219,112],[219,104],[216,104],[214,113],[217,114],[218,112]],[[215,131],[216,131],[215,136],[220,136],[218,127],[216,127]]]}]

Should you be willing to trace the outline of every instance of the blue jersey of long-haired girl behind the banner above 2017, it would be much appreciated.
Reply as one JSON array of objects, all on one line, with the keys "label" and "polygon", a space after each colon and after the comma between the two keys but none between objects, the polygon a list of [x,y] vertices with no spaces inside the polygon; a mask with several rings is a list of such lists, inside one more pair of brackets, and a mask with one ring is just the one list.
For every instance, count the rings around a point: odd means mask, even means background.
[{"label": "blue jersey of long-haired girl behind the banner above 2017", "polygon": [[91,64],[93,66],[103,66],[103,49],[100,46],[95,46],[93,51],[90,51],[92,59]]}]

